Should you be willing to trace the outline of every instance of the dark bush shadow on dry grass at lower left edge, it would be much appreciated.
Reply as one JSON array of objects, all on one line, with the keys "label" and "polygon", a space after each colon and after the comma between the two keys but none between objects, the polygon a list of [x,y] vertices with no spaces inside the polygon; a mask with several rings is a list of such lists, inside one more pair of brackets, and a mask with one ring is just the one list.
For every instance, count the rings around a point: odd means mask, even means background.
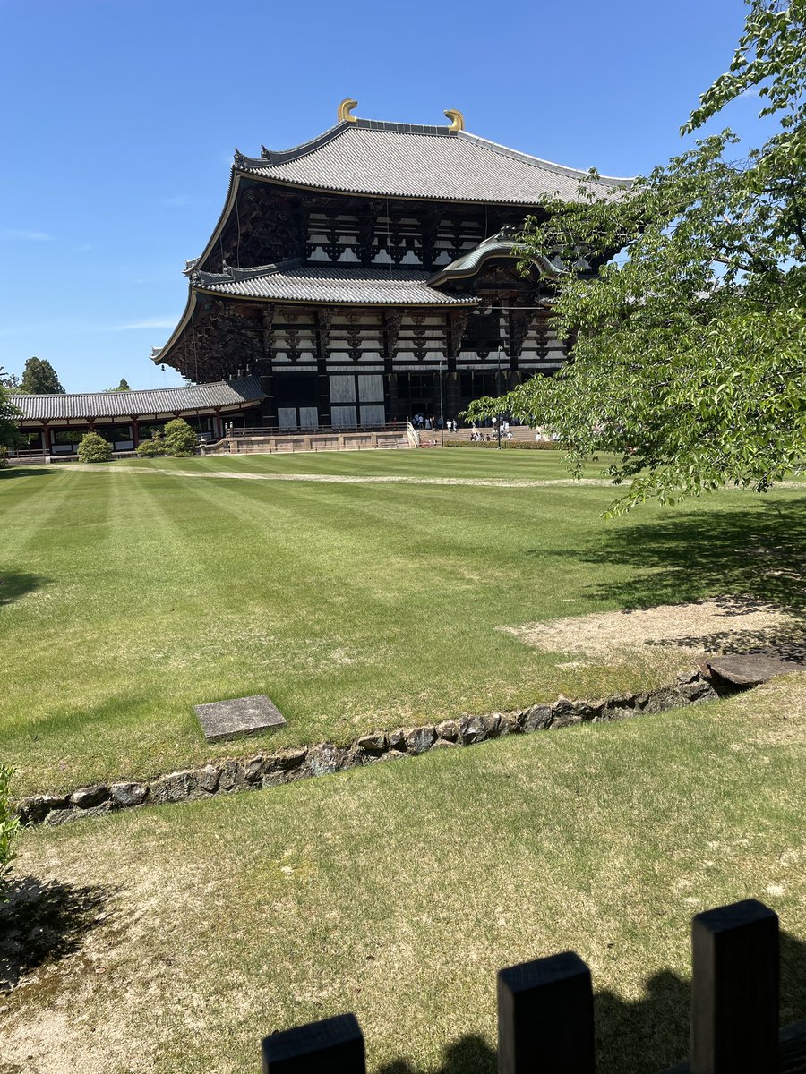
[{"label": "dark bush shadow on dry grass at lower left edge", "polygon": [[45,962],[74,954],[86,934],[107,919],[114,889],[102,885],[12,881],[0,903],[0,995]]}]

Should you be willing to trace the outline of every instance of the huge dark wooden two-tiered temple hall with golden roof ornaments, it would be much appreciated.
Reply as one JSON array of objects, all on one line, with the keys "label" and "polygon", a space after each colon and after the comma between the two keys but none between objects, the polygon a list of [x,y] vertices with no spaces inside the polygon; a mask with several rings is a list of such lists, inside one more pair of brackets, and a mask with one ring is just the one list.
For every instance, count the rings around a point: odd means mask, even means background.
[{"label": "huge dark wooden two-tiered temple hall with golden roof ornaments", "polygon": [[[518,271],[515,234],[591,177],[449,126],[359,119],[291,149],[235,151],[224,211],[187,262],[189,294],[153,352],[197,384],[260,387],[235,425],[347,429],[456,417],[473,398],[556,371],[552,275]],[[582,273],[599,265],[580,262]]]}]

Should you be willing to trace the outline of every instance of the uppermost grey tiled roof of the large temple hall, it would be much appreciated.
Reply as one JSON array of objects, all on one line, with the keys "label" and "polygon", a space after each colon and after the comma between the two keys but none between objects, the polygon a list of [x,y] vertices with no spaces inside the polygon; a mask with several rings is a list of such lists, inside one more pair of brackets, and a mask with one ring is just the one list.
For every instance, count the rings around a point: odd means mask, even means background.
[{"label": "uppermost grey tiled roof of the large temple hall", "polygon": [[247,174],[305,187],[380,197],[534,205],[546,195],[578,199],[580,180],[602,194],[630,179],[601,176],[508,149],[466,131],[370,119],[342,122],[282,151],[262,157],[235,154]]}]

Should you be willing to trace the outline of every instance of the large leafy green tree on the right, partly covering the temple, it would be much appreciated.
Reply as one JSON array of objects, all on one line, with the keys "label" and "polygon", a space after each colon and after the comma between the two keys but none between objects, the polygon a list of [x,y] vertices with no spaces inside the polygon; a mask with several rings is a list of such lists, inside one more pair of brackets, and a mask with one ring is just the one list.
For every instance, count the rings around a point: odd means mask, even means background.
[{"label": "large leafy green tree on the right, partly covering the temple", "polygon": [[[635,180],[528,219],[522,265],[555,277],[572,360],[472,415],[510,409],[559,434],[572,465],[615,451],[615,509],[726,483],[759,491],[806,460],[806,0],[752,0],[731,69],[681,132],[759,87],[779,129],[740,161],[730,131]],[[611,260],[618,250],[622,260]],[[580,252],[593,280],[565,265]]]}]

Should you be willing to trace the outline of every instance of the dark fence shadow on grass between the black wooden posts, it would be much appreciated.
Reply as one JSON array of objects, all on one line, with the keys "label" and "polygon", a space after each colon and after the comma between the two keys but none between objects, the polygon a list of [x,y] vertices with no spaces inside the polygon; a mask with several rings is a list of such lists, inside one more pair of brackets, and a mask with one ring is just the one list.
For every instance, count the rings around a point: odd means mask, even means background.
[{"label": "dark fence shadow on grass between the black wooden posts", "polygon": [[[780,955],[781,1024],[789,1025],[806,1016],[806,944],[781,932]],[[650,977],[645,989],[634,1003],[613,992],[595,996],[598,1074],[657,1074],[688,1059],[690,983],[665,971]],[[436,1074],[495,1074],[496,1068],[495,1051],[469,1034],[445,1048]],[[398,1060],[378,1074],[421,1072]]]}]

